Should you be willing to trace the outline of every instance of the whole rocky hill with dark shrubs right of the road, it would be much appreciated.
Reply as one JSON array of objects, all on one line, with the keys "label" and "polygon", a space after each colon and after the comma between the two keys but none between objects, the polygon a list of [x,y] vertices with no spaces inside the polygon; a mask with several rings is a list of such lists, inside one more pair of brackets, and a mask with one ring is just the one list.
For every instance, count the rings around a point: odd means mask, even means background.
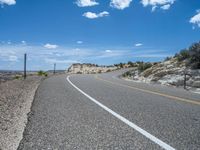
[{"label": "whole rocky hill with dark shrubs right of the road", "polygon": [[[159,63],[139,63],[123,77],[146,83],[200,88],[200,42]],[[186,77],[186,78],[185,78]]]}]

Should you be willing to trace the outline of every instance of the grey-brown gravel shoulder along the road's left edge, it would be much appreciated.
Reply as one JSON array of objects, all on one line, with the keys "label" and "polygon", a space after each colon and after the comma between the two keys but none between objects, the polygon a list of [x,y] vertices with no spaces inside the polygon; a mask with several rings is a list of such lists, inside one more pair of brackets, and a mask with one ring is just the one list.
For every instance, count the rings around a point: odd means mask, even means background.
[{"label": "grey-brown gravel shoulder along the road's left edge", "polygon": [[0,84],[0,150],[16,150],[27,123],[27,114],[43,77],[10,80]]}]

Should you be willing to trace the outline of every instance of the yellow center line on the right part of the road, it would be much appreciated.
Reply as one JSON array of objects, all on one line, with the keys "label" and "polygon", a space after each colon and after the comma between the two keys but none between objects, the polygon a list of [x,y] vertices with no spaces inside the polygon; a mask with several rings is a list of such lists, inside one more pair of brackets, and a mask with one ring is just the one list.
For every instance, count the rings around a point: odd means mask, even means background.
[{"label": "yellow center line on the right part of the road", "polygon": [[194,100],[190,100],[190,99],[185,99],[185,98],[181,98],[181,97],[177,97],[177,96],[172,96],[172,95],[160,93],[160,92],[157,92],[157,91],[155,92],[155,91],[151,91],[151,90],[145,90],[145,89],[142,89],[142,88],[137,88],[137,87],[133,87],[133,86],[121,84],[121,83],[115,83],[115,82],[112,82],[112,81],[108,81],[108,80],[102,79],[102,78],[98,77],[97,75],[95,76],[95,78],[98,79],[98,80],[102,80],[104,82],[110,83],[110,84],[114,84],[114,85],[119,85],[119,86],[131,88],[131,89],[142,91],[142,92],[145,92],[145,93],[155,94],[155,95],[167,97],[167,98],[173,99],[173,100],[178,100],[178,101],[182,101],[182,102],[186,102],[186,103],[200,105],[200,102],[198,102],[198,101],[194,101]]}]

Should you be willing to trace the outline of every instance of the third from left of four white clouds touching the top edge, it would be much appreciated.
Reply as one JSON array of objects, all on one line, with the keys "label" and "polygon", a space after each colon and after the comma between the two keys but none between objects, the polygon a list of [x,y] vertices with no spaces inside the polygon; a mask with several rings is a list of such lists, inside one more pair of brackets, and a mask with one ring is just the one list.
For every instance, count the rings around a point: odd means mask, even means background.
[{"label": "third from left of four white clouds touching the top edge", "polygon": [[110,6],[116,9],[125,9],[129,7],[132,0],[111,0]]}]

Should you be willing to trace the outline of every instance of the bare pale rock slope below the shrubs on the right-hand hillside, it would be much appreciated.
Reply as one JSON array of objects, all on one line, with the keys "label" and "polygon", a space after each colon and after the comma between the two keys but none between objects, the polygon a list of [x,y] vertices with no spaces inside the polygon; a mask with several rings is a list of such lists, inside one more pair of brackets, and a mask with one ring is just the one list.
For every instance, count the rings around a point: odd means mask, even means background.
[{"label": "bare pale rock slope below the shrubs on the right-hand hillside", "polygon": [[187,79],[187,86],[200,88],[200,69],[187,69],[185,62],[178,62],[176,58],[153,65],[151,68],[139,73],[133,70],[129,79],[146,83],[155,82],[164,85],[183,86],[184,75]]}]

